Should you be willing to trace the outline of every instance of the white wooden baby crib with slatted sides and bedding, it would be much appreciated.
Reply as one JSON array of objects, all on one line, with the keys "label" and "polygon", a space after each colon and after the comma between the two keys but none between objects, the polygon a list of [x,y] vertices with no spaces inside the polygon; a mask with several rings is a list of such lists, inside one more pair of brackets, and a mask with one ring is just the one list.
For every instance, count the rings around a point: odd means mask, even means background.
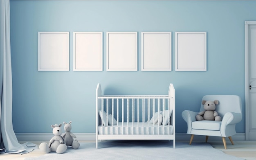
[{"label": "white wooden baby crib with slatted sides and bedding", "polygon": [[175,89],[168,95],[102,95],[96,89],[96,148],[98,140],[173,140],[175,148]]}]

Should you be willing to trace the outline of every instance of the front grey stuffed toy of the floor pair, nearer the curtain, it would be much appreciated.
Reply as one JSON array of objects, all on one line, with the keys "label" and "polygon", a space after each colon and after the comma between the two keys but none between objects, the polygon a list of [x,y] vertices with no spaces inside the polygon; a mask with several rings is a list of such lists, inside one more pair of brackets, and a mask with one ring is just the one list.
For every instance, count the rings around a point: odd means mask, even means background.
[{"label": "front grey stuffed toy of the floor pair, nearer the curtain", "polygon": [[52,133],[55,135],[52,137],[52,139],[49,141],[49,145],[47,143],[43,142],[39,145],[39,149],[44,151],[45,153],[49,153],[51,151],[56,153],[64,153],[67,150],[67,145],[65,144],[65,141],[63,137],[61,136],[62,130],[61,130],[62,124],[55,124],[51,125]]}]

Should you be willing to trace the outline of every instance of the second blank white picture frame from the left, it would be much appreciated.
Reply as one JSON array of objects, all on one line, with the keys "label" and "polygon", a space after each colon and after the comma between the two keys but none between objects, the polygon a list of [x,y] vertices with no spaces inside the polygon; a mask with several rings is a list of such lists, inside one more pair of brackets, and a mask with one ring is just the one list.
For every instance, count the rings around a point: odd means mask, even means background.
[{"label": "second blank white picture frame from the left", "polygon": [[73,32],[73,70],[103,70],[103,32]]}]

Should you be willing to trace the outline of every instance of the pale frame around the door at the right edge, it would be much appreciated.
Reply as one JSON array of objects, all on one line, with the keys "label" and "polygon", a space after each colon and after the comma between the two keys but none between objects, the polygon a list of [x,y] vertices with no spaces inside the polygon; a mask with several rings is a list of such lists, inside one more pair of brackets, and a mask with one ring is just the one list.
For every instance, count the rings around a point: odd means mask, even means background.
[{"label": "pale frame around the door at the right edge", "polygon": [[245,21],[245,140],[249,140],[249,25],[256,21]]}]

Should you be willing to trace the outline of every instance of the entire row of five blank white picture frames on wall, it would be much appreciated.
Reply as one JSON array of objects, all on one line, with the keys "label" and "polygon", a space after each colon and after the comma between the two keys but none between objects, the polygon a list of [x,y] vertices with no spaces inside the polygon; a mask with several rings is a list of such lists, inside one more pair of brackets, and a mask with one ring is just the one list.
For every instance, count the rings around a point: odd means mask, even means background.
[{"label": "entire row of five blank white picture frames on wall", "polygon": [[[137,71],[137,32],[106,32],[106,70]],[[172,33],[141,32],[141,70],[171,71]],[[38,32],[38,70],[70,70],[70,33]],[[206,32],[175,32],[175,70],[206,71]],[[103,70],[103,32],[73,32],[73,70]]]}]

